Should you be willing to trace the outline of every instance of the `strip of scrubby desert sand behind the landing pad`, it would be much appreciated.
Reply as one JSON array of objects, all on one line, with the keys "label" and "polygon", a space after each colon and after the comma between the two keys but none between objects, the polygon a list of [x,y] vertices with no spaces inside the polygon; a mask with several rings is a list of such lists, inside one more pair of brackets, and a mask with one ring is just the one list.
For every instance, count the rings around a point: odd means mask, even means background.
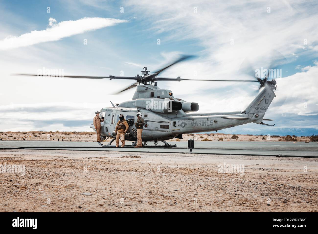
[{"label": "strip of scrubby desert sand behind the landing pad", "polygon": [[[11,137],[10,137],[11,136]],[[241,135],[238,139],[232,139],[232,134],[224,133],[210,133],[210,134],[183,134],[183,139],[171,139],[169,141],[187,141],[189,138],[195,140],[211,140],[211,141],[280,141],[281,138],[278,136],[255,136],[255,135]],[[43,132],[43,131],[29,131],[29,132],[0,132],[0,138],[2,140],[50,140],[57,141],[66,140],[69,141],[96,141],[97,134],[95,132]],[[307,141],[308,137],[297,137],[298,141]],[[107,141],[110,141],[107,140]]]}]

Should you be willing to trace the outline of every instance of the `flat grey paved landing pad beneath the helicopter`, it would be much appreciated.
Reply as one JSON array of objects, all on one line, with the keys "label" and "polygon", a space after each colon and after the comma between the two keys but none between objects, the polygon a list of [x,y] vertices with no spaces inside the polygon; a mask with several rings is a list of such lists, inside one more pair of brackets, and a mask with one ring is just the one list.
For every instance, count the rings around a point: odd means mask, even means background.
[{"label": "flat grey paved landing pad beneath the helicopter", "polygon": [[[84,150],[84,151],[122,151],[122,152],[165,152],[188,153],[186,141],[171,141],[174,148],[166,148],[162,142],[154,145],[149,142],[146,147],[134,148],[131,142],[125,147],[116,148],[114,145],[101,147],[97,142],[53,142],[53,141],[0,141],[0,149],[50,149],[50,150]],[[160,147],[162,146],[162,147]],[[233,155],[259,155],[259,156],[289,156],[289,157],[318,157],[318,144],[316,142],[209,142],[195,141],[193,153],[202,154],[233,154]]]}]

